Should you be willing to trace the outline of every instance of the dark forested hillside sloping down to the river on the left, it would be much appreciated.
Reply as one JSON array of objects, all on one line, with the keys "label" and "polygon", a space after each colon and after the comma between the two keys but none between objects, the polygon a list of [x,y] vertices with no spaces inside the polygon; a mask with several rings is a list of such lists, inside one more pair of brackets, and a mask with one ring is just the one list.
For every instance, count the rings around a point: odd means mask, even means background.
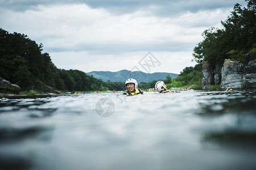
[{"label": "dark forested hillside sloping down to the river on the left", "polygon": [[44,84],[61,91],[108,90],[105,82],[82,71],[57,69],[42,50],[26,35],[0,29],[0,76],[22,90],[40,90]]}]

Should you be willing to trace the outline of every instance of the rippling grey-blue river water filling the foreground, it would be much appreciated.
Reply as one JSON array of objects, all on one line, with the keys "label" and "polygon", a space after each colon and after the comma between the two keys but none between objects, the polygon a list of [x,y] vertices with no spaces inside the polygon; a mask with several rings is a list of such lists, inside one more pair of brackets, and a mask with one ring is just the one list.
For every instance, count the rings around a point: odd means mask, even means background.
[{"label": "rippling grey-blue river water filling the foreground", "polygon": [[256,90],[0,101],[0,169],[256,169]]}]

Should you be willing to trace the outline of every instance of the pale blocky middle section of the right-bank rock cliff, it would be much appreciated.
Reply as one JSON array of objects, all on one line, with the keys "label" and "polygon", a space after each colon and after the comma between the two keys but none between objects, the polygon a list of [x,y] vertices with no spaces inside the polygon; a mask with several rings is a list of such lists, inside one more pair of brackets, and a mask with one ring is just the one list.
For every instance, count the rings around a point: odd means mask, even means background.
[{"label": "pale blocky middle section of the right-bank rock cliff", "polygon": [[221,87],[243,88],[243,65],[238,61],[225,59],[221,69]]}]

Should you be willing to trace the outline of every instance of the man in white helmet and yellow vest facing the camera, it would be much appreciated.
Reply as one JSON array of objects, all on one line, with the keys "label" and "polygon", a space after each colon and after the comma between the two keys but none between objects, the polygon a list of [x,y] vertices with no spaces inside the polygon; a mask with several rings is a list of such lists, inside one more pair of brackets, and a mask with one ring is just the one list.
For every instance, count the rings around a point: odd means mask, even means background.
[{"label": "man in white helmet and yellow vest facing the camera", "polygon": [[127,79],[125,87],[127,91],[123,95],[144,95],[144,92],[138,88],[138,83],[135,79]]}]

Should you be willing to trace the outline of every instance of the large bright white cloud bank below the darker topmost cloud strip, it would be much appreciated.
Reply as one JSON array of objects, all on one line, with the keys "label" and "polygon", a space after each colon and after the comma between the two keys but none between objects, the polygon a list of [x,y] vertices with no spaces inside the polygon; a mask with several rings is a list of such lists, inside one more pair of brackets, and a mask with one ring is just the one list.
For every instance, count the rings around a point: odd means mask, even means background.
[{"label": "large bright white cloud bank below the darker topmost cloud strip", "polygon": [[184,45],[200,40],[195,35],[207,29],[208,20],[216,25],[221,13],[185,12],[177,18],[158,18],[148,16],[147,11],[113,15],[87,5],[38,6],[37,10],[26,12],[7,11],[2,19],[9,16],[10,20],[2,25],[9,24],[12,29],[40,40],[50,52],[184,50]]}]

